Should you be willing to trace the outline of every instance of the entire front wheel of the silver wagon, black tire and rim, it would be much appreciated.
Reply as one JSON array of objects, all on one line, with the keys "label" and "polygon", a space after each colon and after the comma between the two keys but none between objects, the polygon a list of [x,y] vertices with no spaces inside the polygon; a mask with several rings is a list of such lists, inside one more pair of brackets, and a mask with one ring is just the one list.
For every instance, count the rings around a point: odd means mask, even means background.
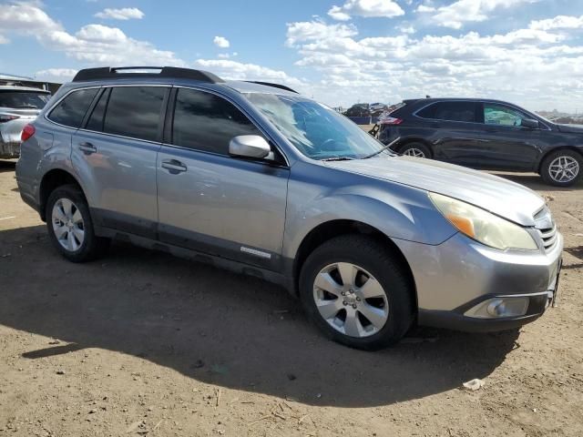
[{"label": "entire front wheel of the silver wagon, black tire and rim", "polygon": [[331,239],[306,259],[302,305],[332,340],[367,351],[401,340],[414,320],[413,288],[404,267],[374,239]]}]

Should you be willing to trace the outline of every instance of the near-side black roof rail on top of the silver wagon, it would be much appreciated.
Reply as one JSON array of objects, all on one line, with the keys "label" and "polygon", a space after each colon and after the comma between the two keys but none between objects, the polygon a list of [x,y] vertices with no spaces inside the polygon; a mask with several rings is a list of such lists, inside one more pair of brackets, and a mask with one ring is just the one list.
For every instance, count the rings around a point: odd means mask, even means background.
[{"label": "near-side black roof rail on top of the silver wagon", "polygon": [[[128,70],[126,73],[125,71]],[[133,70],[133,71],[132,71]],[[136,70],[158,70],[156,72],[142,72]],[[104,79],[125,79],[129,77],[168,77],[173,79],[192,79],[200,82],[218,84],[224,82],[219,76],[208,71],[179,68],[176,66],[102,66],[79,70],[73,77],[73,82],[86,82]]]}]

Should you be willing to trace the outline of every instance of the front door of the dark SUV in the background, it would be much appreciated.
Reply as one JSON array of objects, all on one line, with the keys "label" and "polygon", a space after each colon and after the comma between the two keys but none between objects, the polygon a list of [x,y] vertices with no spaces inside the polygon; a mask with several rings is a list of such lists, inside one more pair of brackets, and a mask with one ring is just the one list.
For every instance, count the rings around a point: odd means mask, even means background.
[{"label": "front door of the dark SUV in the background", "polygon": [[532,170],[541,153],[547,127],[523,127],[531,118],[524,112],[499,103],[481,104],[484,115],[483,168]]}]

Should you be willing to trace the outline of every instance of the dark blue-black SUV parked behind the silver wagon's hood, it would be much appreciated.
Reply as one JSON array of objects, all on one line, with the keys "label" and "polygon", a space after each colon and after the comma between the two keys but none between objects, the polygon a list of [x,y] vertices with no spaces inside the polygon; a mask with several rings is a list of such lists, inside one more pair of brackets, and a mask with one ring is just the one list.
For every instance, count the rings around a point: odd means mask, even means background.
[{"label": "dark blue-black SUV parked behind the silver wagon's hood", "polygon": [[[386,114],[385,114],[386,116]],[[404,100],[381,120],[379,139],[403,155],[470,168],[534,171],[568,187],[583,166],[583,126],[558,125],[498,100]]]}]

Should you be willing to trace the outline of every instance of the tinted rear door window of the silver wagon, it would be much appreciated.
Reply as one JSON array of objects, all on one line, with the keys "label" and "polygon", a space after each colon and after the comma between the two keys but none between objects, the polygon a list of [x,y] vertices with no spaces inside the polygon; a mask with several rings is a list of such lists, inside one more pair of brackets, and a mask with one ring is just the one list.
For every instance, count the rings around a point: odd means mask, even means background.
[{"label": "tinted rear door window of the silver wagon", "polygon": [[103,131],[155,141],[160,109],[166,89],[163,86],[116,86],[111,88]]}]

